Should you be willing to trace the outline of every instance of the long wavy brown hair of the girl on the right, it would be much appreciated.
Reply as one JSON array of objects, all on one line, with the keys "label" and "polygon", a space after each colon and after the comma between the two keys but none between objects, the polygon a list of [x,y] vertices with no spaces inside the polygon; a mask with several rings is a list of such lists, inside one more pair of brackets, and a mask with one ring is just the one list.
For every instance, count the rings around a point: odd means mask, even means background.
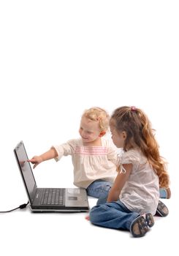
[{"label": "long wavy brown hair of the girl on the right", "polygon": [[121,107],[113,112],[112,119],[119,132],[126,132],[124,151],[138,146],[159,176],[160,187],[168,187],[167,162],[159,154],[159,145],[156,142],[154,130],[145,113],[139,108]]}]

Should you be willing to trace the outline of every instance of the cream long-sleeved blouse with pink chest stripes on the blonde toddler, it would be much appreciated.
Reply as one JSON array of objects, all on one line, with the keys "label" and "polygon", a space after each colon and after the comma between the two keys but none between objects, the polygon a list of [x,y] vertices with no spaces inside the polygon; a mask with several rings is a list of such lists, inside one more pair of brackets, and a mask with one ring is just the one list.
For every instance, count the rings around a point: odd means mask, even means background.
[{"label": "cream long-sleeved blouse with pink chest stripes on the blonde toddler", "polygon": [[97,179],[113,182],[116,172],[117,150],[111,140],[102,137],[102,146],[83,146],[81,138],[53,146],[58,153],[56,161],[63,156],[72,156],[74,184],[87,188]]}]

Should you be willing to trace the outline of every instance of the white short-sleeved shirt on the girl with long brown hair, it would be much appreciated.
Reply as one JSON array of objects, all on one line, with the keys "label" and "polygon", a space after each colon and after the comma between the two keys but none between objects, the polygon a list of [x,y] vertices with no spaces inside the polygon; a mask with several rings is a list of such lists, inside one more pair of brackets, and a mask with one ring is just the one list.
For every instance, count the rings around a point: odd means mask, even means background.
[{"label": "white short-sleeved shirt on the girl with long brown hair", "polygon": [[131,149],[118,156],[118,165],[132,164],[132,172],[119,199],[139,214],[156,214],[159,203],[159,177],[140,149]]}]

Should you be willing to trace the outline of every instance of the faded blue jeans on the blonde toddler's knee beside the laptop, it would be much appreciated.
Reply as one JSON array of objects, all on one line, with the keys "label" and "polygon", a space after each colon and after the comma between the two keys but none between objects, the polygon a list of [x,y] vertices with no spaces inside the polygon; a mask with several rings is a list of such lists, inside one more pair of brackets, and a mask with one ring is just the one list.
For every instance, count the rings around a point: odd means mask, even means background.
[{"label": "faded blue jeans on the blonde toddler's knee beside the laptop", "polygon": [[112,186],[113,183],[99,179],[91,183],[87,187],[86,192],[91,197],[107,197]]}]

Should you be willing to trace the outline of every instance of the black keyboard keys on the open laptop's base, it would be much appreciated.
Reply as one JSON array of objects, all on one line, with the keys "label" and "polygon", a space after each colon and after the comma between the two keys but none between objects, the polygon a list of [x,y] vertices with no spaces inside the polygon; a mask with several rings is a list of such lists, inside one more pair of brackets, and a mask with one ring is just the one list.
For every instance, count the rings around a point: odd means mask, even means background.
[{"label": "black keyboard keys on the open laptop's base", "polygon": [[41,205],[64,205],[65,189],[44,189]]}]

